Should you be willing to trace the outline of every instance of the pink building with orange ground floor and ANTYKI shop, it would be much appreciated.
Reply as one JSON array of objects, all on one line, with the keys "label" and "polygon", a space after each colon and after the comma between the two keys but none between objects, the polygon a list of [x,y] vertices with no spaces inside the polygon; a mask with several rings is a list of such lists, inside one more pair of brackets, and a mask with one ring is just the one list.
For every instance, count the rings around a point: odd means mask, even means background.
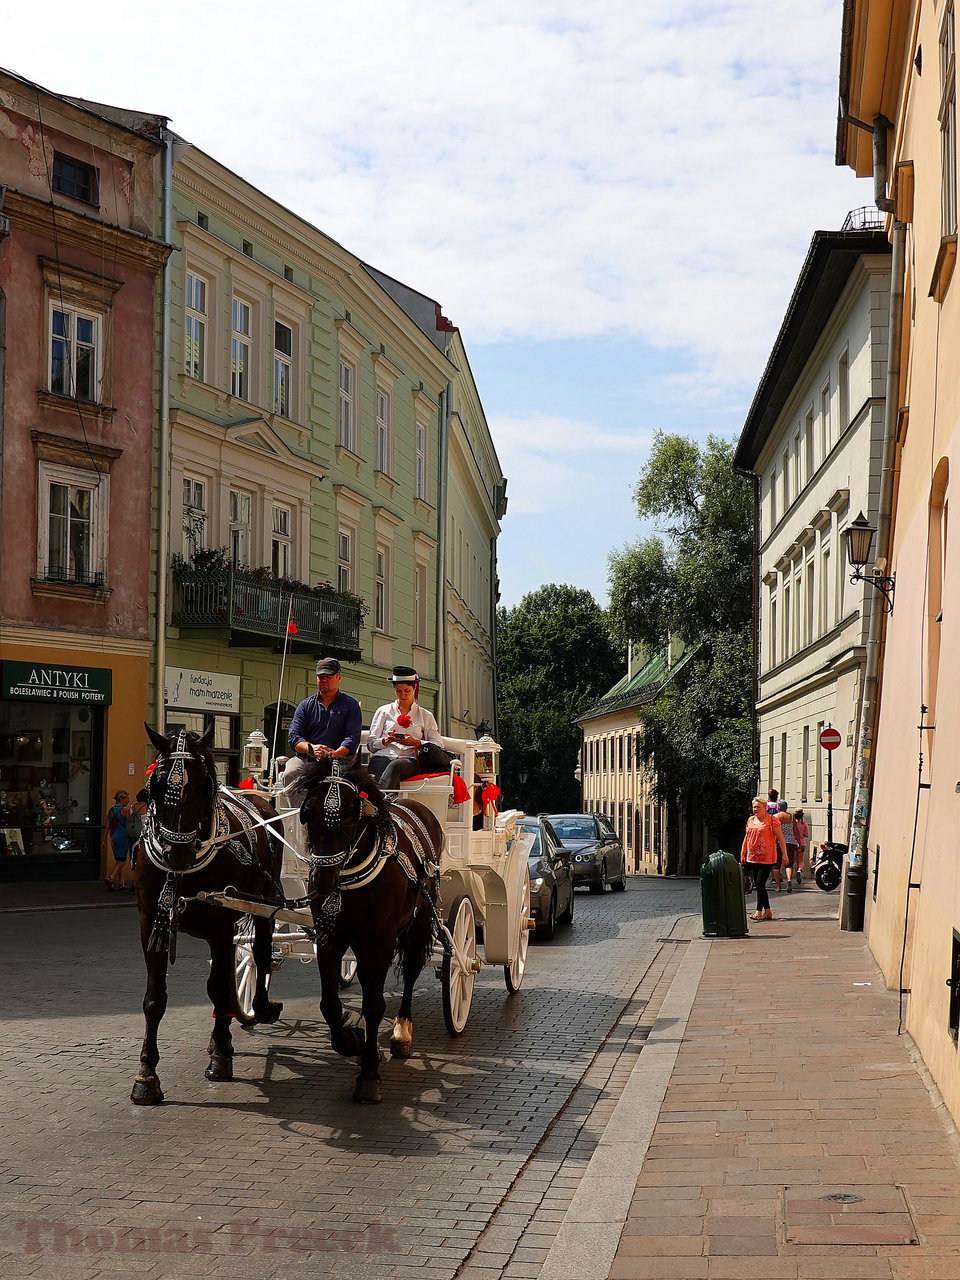
[{"label": "pink building with orange ground floor and ANTYKI shop", "polygon": [[141,785],[163,125],[0,72],[0,879],[96,874]]}]

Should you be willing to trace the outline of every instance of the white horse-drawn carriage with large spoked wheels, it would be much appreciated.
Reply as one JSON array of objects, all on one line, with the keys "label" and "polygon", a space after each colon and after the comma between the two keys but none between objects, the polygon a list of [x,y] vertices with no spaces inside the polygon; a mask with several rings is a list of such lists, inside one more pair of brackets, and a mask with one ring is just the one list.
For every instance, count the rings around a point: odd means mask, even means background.
[{"label": "white horse-drawn carriage with large spoked wheels", "polygon": [[[366,739],[366,733],[364,735]],[[530,919],[530,876],[527,855],[532,836],[522,831],[518,810],[497,813],[493,804],[484,805],[483,826],[474,829],[474,805],[470,800],[454,803],[454,774],[460,774],[470,796],[474,787],[494,782],[499,745],[489,737],[477,740],[443,739],[453,753],[448,773],[412,778],[398,795],[417,800],[434,813],[444,829],[440,855],[440,899],[438,914],[443,937],[434,950],[435,973],[442,983],[443,1018],[451,1036],[458,1036],[467,1024],[474,998],[474,983],[484,965],[500,965],[508,992],[518,991],[524,980],[527,942],[534,922]],[[244,754],[244,767],[257,771],[256,750]],[[248,751],[250,751],[248,746]],[[462,791],[462,788],[458,788]],[[293,805],[282,785],[264,788],[283,819],[284,837],[282,886],[289,900],[306,895],[305,828],[298,806]],[[479,823],[477,823],[479,824]],[[308,908],[266,908],[233,897],[228,892],[201,895],[211,901],[250,914],[237,925],[236,977],[237,1000],[242,1014],[252,1018],[256,970],[253,965],[252,915],[273,915],[274,970],[284,960],[296,959],[312,964],[316,947],[310,936],[312,916]],[[483,937],[483,943],[480,938]],[[348,983],[356,972],[349,952],[344,957],[342,982]]]}]

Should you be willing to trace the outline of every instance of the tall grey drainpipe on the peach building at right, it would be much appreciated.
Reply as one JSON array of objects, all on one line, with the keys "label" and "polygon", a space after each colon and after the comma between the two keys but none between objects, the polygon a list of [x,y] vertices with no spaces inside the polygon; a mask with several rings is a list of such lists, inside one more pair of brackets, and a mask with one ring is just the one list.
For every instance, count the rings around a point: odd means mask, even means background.
[{"label": "tall grey drainpipe on the peach building at right", "polygon": [[[904,269],[906,223],[893,223],[890,264],[890,323],[887,346],[887,383],[883,406],[883,472],[881,475],[879,511],[877,513],[877,559],[890,572],[891,520],[893,512],[893,479],[896,468],[897,426],[900,419],[900,342],[904,312]],[[879,593],[878,593],[879,594]],[[873,781],[873,740],[879,717],[879,675],[883,655],[886,613],[882,599],[870,600],[870,622],[867,636],[860,723],[858,730],[856,768],[854,772],[854,812],[850,828],[850,852],[846,858],[840,927],[849,932],[863,929],[867,904],[867,837],[870,826]]]}]

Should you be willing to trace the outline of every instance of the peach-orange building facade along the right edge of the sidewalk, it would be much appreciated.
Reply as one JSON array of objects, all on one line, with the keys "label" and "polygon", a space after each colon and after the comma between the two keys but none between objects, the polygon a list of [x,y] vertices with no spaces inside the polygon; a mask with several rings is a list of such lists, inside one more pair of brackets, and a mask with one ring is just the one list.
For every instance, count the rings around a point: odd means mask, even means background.
[{"label": "peach-orange building facade along the right edge of the sidewalk", "polygon": [[905,1027],[960,1120],[960,282],[952,0],[846,0],[837,161],[874,174],[893,246],[896,403],[877,554],[896,577],[882,644],[867,931]]}]

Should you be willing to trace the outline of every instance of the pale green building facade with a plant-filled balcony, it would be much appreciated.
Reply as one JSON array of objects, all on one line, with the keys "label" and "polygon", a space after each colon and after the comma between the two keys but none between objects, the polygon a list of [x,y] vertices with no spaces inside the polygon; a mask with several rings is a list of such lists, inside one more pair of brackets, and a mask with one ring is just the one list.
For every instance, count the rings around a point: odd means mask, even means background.
[{"label": "pale green building facade with a plant-filled balcony", "polygon": [[[390,698],[393,664],[412,663],[422,704],[461,732],[444,710],[443,513],[454,538],[483,531],[492,589],[506,484],[456,326],[186,142],[174,242],[166,723],[212,722],[236,781],[252,728],[273,740],[279,721],[284,749],[314,662],[330,654],[365,723]],[[458,434],[466,448],[449,444]],[[472,639],[472,705],[451,692],[481,719],[494,705],[489,609]]]}]

